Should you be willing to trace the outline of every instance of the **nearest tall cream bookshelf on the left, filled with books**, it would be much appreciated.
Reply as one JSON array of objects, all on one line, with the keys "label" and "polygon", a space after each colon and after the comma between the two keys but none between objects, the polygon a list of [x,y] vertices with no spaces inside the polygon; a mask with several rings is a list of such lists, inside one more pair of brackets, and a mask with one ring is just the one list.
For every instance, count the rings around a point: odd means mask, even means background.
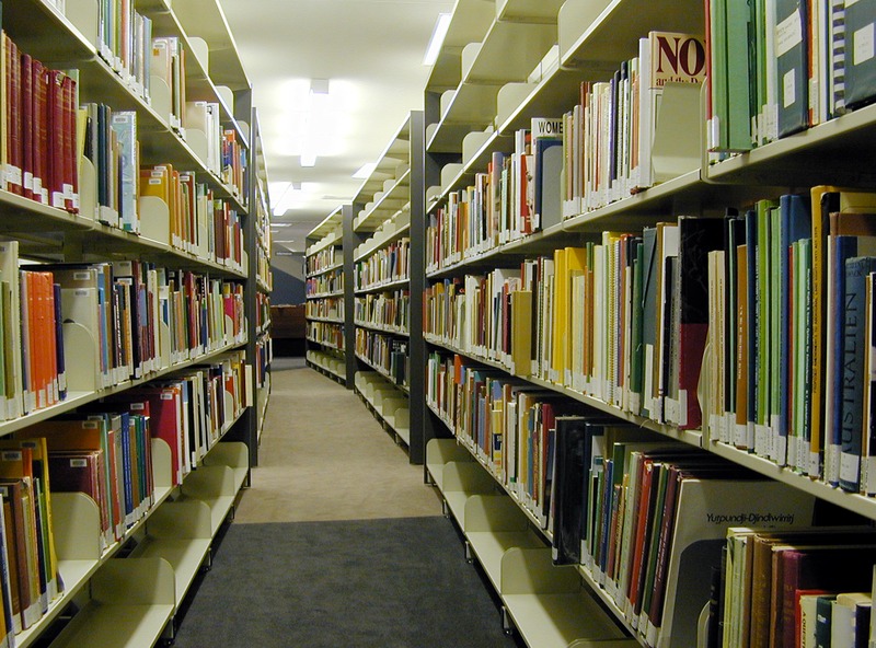
[{"label": "nearest tall cream bookshelf on the left, filled with books", "polygon": [[132,4],[3,3],[3,498],[31,507],[2,524],[3,599],[30,602],[4,604],[4,646],[172,638],[257,462],[270,242],[250,81],[215,0]]}]

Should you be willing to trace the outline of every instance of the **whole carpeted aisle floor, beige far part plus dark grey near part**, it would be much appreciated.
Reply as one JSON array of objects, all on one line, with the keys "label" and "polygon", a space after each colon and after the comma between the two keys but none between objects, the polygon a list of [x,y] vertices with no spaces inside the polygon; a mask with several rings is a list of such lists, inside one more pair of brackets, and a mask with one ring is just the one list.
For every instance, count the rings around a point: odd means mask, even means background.
[{"label": "whole carpeted aisle floor, beige far part plus dark grey near part", "polygon": [[177,648],[515,648],[436,491],[358,397],[275,360],[260,466]]}]

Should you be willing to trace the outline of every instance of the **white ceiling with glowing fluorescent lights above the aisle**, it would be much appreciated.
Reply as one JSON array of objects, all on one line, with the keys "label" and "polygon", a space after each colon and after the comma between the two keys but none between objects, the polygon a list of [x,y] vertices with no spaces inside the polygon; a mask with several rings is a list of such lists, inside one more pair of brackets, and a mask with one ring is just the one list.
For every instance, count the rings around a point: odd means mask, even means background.
[{"label": "white ceiling with glowing fluorescent lights above the aisle", "polygon": [[[274,240],[302,252],[307,233],[362,184],[353,174],[377,161],[408,111],[423,107],[430,70],[423,56],[453,1],[220,2],[253,84],[269,181],[296,183],[291,208],[273,219],[290,224]],[[325,103],[304,117],[311,81],[319,90],[326,79],[328,99],[319,96]],[[300,164],[307,138],[312,167]]]}]

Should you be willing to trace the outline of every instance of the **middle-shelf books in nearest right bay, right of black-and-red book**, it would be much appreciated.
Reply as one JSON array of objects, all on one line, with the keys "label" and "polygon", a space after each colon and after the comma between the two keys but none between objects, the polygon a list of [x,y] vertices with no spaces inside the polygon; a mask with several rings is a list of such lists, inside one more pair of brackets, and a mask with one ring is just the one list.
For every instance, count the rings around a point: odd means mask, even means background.
[{"label": "middle-shelf books in nearest right bay, right of black-and-red book", "polygon": [[710,438],[868,495],[875,197],[817,186],[758,201],[700,262]]}]

